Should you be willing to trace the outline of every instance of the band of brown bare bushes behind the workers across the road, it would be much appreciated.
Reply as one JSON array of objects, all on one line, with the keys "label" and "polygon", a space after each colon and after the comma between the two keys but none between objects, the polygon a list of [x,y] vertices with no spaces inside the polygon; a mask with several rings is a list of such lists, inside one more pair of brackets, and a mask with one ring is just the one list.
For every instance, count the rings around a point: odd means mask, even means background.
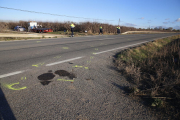
[{"label": "band of brown bare bushes behind the workers across the road", "polygon": [[[54,31],[64,31],[70,30],[71,22],[38,22],[39,25],[42,25],[43,28],[52,28]],[[75,23],[75,32],[84,32],[87,30],[89,33],[98,33],[99,27],[102,25],[104,33],[116,33],[116,27],[114,25],[106,24],[106,23],[98,23],[98,22],[81,22]],[[28,21],[19,21],[19,22],[0,22],[0,31],[4,29],[14,29],[15,26],[22,26],[28,29]],[[126,31],[166,31],[171,32],[171,30],[153,30],[153,29],[137,29],[134,27],[126,27],[121,26],[121,32]]]}]

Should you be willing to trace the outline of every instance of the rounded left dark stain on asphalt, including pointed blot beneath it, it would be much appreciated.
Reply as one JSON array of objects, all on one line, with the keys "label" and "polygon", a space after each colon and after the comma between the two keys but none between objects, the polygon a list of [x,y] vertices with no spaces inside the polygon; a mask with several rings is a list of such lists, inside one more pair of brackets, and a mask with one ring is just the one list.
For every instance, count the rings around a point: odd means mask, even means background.
[{"label": "rounded left dark stain on asphalt, including pointed blot beneath it", "polygon": [[48,85],[51,79],[53,79],[55,77],[55,75],[53,73],[44,73],[42,75],[38,76],[38,79],[40,80],[40,83],[42,85]]}]

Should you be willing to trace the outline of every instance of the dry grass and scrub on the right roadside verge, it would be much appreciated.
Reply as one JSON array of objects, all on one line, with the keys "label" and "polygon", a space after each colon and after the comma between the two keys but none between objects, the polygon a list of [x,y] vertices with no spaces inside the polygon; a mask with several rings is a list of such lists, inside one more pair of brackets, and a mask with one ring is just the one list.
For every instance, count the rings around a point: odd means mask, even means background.
[{"label": "dry grass and scrub on the right roadside verge", "polygon": [[168,119],[180,117],[179,38],[177,35],[125,50],[116,61],[121,73],[133,84],[133,94],[150,100],[148,104]]}]

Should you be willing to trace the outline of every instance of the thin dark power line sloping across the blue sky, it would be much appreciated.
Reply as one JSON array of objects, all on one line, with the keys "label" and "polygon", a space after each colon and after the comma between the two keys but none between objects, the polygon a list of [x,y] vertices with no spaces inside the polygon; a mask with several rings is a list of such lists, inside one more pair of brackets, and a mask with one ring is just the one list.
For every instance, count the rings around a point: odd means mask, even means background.
[{"label": "thin dark power line sloping across the blue sky", "polygon": [[[2,7],[2,6],[0,6],[0,8],[23,11],[23,12],[30,12],[30,13],[37,13],[37,14],[46,14],[46,15],[53,15],[53,16],[64,16],[64,17],[70,17],[70,18],[95,19],[95,18],[85,18],[85,17],[76,17],[76,16],[67,16],[67,15],[51,14],[51,13],[44,13],[44,12],[36,12],[36,11],[8,8],[8,7]],[[95,19],[95,20],[105,20],[105,19]],[[114,21],[114,20],[106,20],[106,21]]]}]

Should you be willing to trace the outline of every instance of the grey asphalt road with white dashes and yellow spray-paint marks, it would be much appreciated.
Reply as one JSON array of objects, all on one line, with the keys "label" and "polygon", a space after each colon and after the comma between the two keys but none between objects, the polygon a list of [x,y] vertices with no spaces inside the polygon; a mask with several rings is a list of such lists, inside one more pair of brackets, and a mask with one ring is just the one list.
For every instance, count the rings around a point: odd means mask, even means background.
[{"label": "grey asphalt road with white dashes and yellow spray-paint marks", "polygon": [[112,57],[173,34],[100,35],[0,42],[3,119],[157,119],[123,94]]}]

